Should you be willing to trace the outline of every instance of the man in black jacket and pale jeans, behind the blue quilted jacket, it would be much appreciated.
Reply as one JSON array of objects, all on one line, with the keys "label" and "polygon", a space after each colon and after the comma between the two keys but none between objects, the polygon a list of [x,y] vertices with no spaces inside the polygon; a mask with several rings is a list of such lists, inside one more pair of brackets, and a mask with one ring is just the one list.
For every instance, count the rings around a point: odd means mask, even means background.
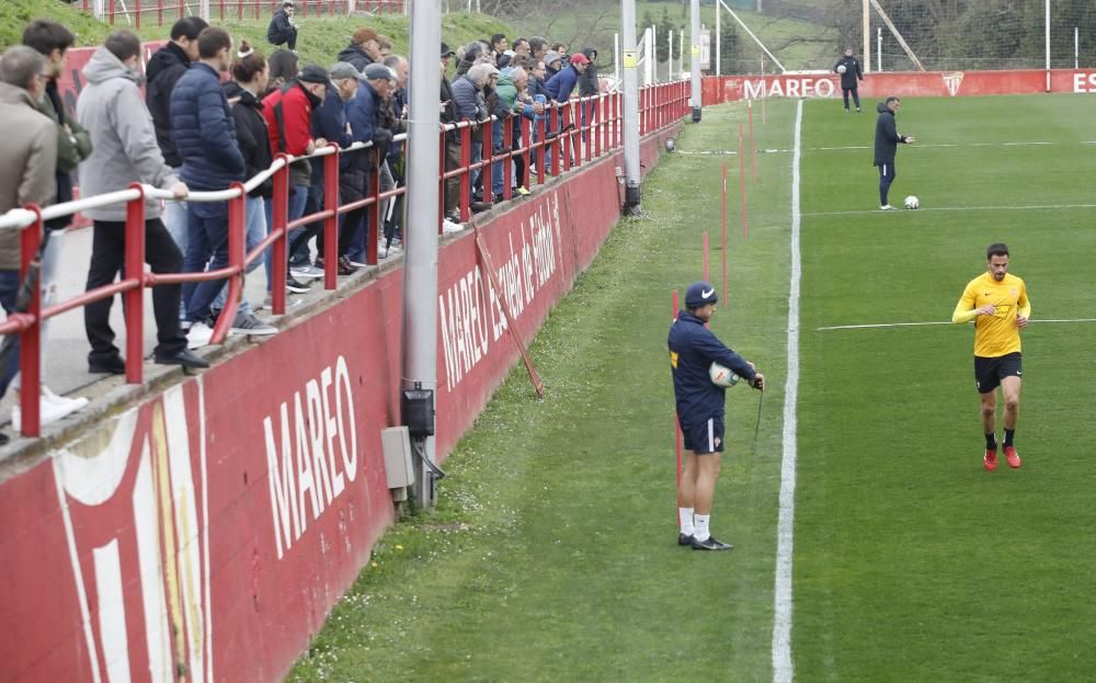
[{"label": "man in black jacket and pale jeans, behind the blue quilted jacket", "polygon": [[[156,126],[156,141],[163,152],[163,160],[179,174],[183,160],[179,158],[175,140],[171,137],[171,93],[175,83],[186,73],[191,64],[198,58],[198,35],[207,24],[199,16],[184,16],[171,26],[171,42],[161,47],[148,60],[145,68],[147,86],[145,102],[152,114]],[[179,250],[186,253],[186,203],[169,202],[163,212],[163,225],[168,228]],[[185,311],[180,312],[183,317]]]}]

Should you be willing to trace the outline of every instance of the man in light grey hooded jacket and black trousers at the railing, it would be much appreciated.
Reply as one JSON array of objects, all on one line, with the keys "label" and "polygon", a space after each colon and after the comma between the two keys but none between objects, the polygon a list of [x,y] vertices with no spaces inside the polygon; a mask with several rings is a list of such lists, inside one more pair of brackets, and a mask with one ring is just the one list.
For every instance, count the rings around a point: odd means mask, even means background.
[{"label": "man in light grey hooded jacket and black trousers at the railing", "polygon": [[[186,185],[163,161],[152,118],[140,96],[140,38],[128,31],[117,31],[107,36],[106,44],[95,50],[83,69],[88,84],[77,103],[77,118],[88,128],[93,145],[91,157],[80,166],[80,189],[85,196],[124,190],[139,182],[171,190],[176,200],[186,197]],[[126,205],[89,209],[83,215],[94,221],[88,270],[88,289],[93,289],[113,283],[125,264]],[[153,273],[178,273],[182,264],[179,248],[160,221],[160,202],[156,200],[145,202],[145,262]],[[186,338],[180,330],[179,297],[179,285],[152,288],[159,341],[153,357],[165,365],[208,367],[186,348]],[[112,303],[113,297],[88,304],[83,309],[91,343],[88,354],[91,373],[125,372],[110,323]]]}]

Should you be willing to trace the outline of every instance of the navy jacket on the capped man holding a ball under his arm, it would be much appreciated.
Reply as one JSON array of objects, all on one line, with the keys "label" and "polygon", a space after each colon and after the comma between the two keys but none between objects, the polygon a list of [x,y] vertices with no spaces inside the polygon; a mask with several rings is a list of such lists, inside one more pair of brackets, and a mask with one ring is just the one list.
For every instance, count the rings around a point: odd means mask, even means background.
[{"label": "navy jacket on the capped man holding a ball under his arm", "polygon": [[677,419],[682,426],[704,423],[723,416],[726,388],[711,384],[708,368],[719,363],[743,379],[752,380],[756,373],[739,354],[704,327],[704,320],[687,310],[677,314],[670,328],[670,368],[674,376]]}]

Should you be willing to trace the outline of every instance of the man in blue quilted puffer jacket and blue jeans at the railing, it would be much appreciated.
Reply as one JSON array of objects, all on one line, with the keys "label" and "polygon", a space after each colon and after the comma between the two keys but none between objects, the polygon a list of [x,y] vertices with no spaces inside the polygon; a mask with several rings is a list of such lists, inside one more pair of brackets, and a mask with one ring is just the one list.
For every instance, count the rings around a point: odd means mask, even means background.
[{"label": "man in blue quilted puffer jacket and blue jeans at the railing", "polygon": [[[194,190],[227,190],[247,180],[247,164],[236,140],[236,122],[220,87],[220,75],[232,62],[232,37],[209,27],[198,36],[198,61],[179,79],[171,94],[171,133],[183,160],[182,180]],[[190,202],[184,273],[228,265],[228,202]],[[183,285],[187,339],[192,348],[213,334],[210,306],[225,281]]]}]

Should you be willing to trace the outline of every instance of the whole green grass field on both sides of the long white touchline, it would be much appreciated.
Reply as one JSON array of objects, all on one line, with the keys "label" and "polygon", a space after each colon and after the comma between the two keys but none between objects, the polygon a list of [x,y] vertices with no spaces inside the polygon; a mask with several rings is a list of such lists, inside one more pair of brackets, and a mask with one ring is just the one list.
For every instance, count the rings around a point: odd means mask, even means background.
[{"label": "whole green grass field on both sides of the long white touchline", "polygon": [[[741,107],[706,110],[644,182],[447,463],[442,503],[392,530],[290,681],[767,681],[788,286],[795,102],[755,109],[750,234],[738,224]],[[791,659],[799,681],[1080,681],[1096,623],[1096,389],[1088,254],[1096,140],[1084,98],[906,100],[895,198],[876,208],[871,114],[803,105],[802,288]],[[869,107],[870,109],[870,107]],[[731,269],[712,328],[769,379],[728,394],[712,530],[674,544],[670,291],[719,244],[727,161]],[[749,173],[749,164],[746,172]],[[1088,205],[1088,206],[1082,206]],[[1042,208],[1032,208],[1042,207]],[[1028,284],[1017,447],[981,467],[972,330],[949,320],[984,249]],[[719,252],[712,277],[719,282]]]}]

